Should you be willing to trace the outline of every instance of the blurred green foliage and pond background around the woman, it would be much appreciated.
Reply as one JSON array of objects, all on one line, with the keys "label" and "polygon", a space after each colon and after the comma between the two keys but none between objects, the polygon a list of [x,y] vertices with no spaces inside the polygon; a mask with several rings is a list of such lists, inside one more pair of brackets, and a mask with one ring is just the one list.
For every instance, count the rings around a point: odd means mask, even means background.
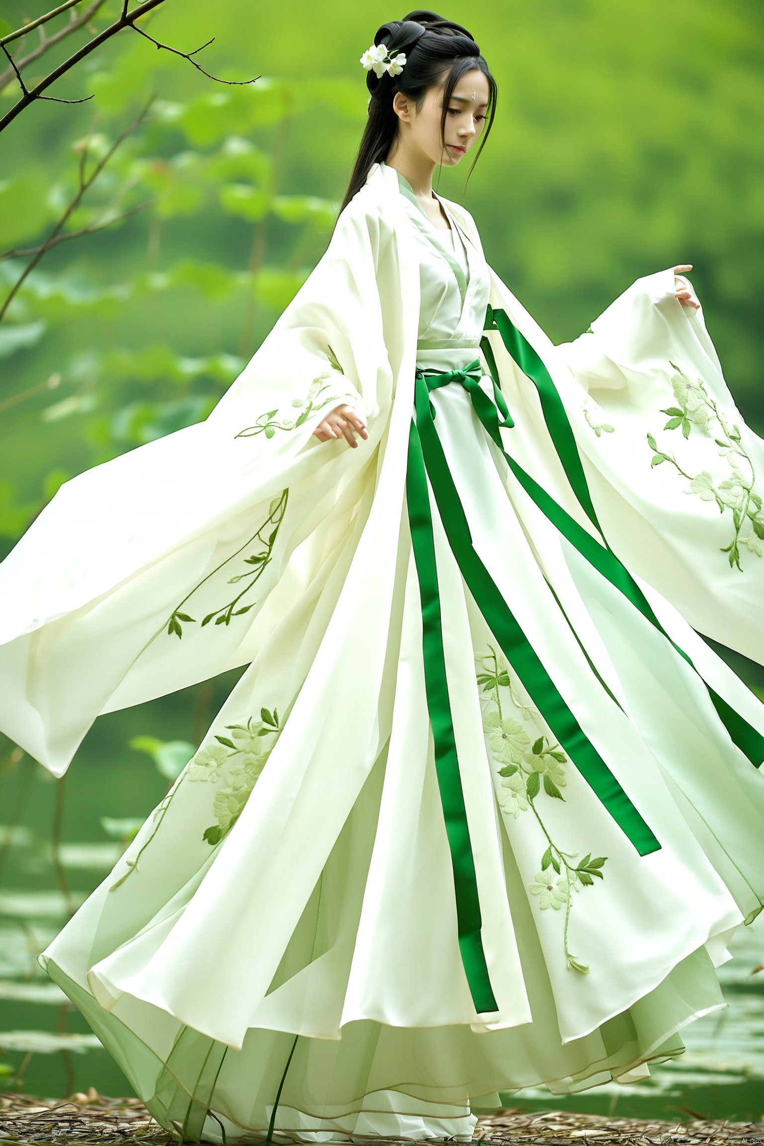
[{"label": "blurred green foliage and pond background around the woman", "polygon": [[[6,0],[0,34],[48,7]],[[29,65],[26,81],[119,8],[107,0]],[[466,187],[472,157],[435,172],[436,189],[474,215],[490,265],[564,342],[636,277],[694,264],[732,393],[764,432],[761,0],[483,0],[438,10],[470,26],[498,84],[496,120]],[[377,26],[404,11],[349,0],[283,10],[166,0],[147,31],[187,52],[214,37],[202,65],[257,83],[214,83],[124,30],[52,89],[92,100],[37,102],[0,134],[0,254],[24,252],[71,203],[82,156],[88,178],[155,95],[64,227],[103,229],[50,249],[7,307],[30,256],[0,261],[0,557],[62,481],[204,418],[242,370],[326,246],[365,119],[359,57]],[[15,55],[37,42],[30,34]],[[0,115],[17,91],[6,84]],[[762,670],[732,660],[761,690]],[[0,737],[0,1089],[129,1092],[34,956],[111,869],[237,676],[101,717],[64,782]],[[758,1118],[757,926],[722,968],[730,1008],[692,1025],[683,1061],[639,1086],[565,1099],[539,1089],[507,1102]]]}]

